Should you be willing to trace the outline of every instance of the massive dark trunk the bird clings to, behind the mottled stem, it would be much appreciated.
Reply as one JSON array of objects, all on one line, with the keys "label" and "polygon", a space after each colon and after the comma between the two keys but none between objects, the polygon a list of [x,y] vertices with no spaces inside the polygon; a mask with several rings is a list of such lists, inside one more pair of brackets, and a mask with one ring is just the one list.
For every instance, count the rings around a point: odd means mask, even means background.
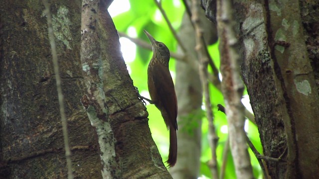
[{"label": "massive dark trunk the bird clings to, behind the mottled stem", "polygon": [[[109,3],[108,1],[107,3]],[[106,5],[107,6],[107,5]],[[106,9],[106,8],[105,8]],[[67,178],[58,100],[41,1],[0,3],[0,176]],[[80,99],[81,1],[51,1],[75,178],[101,178],[97,134]],[[151,137],[145,106],[126,69],[108,13],[99,21],[105,103],[123,178],[170,178]]]}]

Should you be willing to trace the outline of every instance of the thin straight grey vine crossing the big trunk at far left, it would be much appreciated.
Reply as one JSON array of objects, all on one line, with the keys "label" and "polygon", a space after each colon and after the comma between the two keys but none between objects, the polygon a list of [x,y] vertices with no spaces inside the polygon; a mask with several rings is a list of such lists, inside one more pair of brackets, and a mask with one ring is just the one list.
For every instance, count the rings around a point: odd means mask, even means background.
[{"label": "thin straight grey vine crossing the big trunk at far left", "polygon": [[43,1],[46,11],[46,17],[47,17],[47,23],[48,23],[48,35],[51,45],[51,52],[52,52],[52,61],[53,61],[53,67],[54,67],[54,74],[55,74],[55,81],[56,81],[56,89],[58,92],[58,100],[59,100],[59,106],[60,106],[60,114],[61,114],[61,122],[62,122],[62,131],[63,131],[63,139],[64,139],[64,147],[65,147],[65,158],[66,158],[66,164],[68,169],[68,179],[73,179],[73,173],[72,173],[72,161],[71,161],[71,151],[69,147],[69,137],[68,137],[68,130],[67,130],[67,121],[65,117],[65,111],[64,111],[64,96],[62,93],[62,87],[61,87],[61,77],[59,73],[59,65],[58,65],[58,58],[57,58],[57,52],[56,52],[56,44],[53,34],[53,28],[52,28],[52,16],[50,12],[50,5],[48,3],[48,0]]}]

